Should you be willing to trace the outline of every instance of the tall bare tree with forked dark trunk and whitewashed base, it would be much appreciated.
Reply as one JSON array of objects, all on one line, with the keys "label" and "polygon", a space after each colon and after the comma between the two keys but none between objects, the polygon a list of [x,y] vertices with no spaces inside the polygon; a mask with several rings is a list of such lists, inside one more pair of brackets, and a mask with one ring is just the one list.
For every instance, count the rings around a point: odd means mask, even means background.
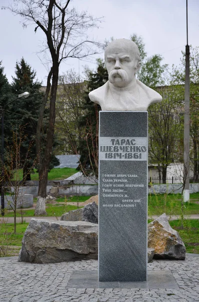
[{"label": "tall bare tree with forked dark trunk and whitewashed base", "polygon": [[[83,58],[96,53],[88,40],[87,30],[97,26],[99,19],[93,19],[87,13],[78,13],[74,8],[69,9],[70,0],[16,0],[8,7],[13,13],[24,18],[24,26],[36,24],[35,32],[42,30],[46,37],[46,51],[50,52],[50,71],[43,104],[40,108],[37,125],[36,150],[39,167],[39,191],[35,215],[46,214],[46,187],[48,170],[52,155],[56,95],[58,87],[59,67],[67,58]],[[50,99],[50,113],[47,130],[45,151],[42,156],[41,131],[43,113]]]}]

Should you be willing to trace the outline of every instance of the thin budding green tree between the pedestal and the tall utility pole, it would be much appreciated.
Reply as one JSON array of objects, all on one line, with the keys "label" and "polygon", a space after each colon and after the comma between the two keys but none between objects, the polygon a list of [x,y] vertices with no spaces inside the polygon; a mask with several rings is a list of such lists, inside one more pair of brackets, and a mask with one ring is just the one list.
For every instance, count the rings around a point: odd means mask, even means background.
[{"label": "thin budding green tree between the pedestal and the tall utility pole", "polygon": [[179,161],[182,133],[181,101],[177,87],[163,87],[163,100],[148,109],[149,161],[157,164],[159,178],[166,183],[166,170],[170,163]]}]

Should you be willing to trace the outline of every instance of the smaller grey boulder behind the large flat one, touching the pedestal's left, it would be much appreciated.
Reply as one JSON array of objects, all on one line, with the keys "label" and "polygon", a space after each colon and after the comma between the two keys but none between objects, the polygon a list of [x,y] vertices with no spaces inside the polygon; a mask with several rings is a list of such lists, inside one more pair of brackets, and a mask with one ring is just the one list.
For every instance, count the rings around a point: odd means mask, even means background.
[{"label": "smaller grey boulder behind the large flat one, touching the pedestal's left", "polygon": [[60,220],[64,221],[88,221],[98,223],[98,205],[93,202],[85,205],[85,207],[70,211],[61,216]]}]

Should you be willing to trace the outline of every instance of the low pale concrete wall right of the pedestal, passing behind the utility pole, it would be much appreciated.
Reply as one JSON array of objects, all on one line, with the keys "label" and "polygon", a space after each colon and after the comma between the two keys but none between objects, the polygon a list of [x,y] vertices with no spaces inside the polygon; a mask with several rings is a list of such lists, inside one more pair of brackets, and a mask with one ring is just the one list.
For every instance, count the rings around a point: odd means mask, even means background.
[{"label": "low pale concrete wall right of the pedestal, passing behind the utility pole", "polygon": [[[199,184],[190,184],[190,193],[199,192]],[[182,193],[182,184],[173,184],[173,185],[152,185],[148,186],[148,193],[151,194],[164,194],[164,193],[173,193],[173,194],[181,194]]]}]

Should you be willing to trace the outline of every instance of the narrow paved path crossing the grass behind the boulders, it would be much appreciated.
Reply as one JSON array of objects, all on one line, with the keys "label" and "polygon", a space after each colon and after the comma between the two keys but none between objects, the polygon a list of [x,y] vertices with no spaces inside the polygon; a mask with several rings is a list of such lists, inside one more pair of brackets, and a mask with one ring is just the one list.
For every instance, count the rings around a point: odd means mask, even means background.
[{"label": "narrow paved path crossing the grass behind the boulders", "polygon": [[[152,216],[148,216],[148,219],[156,219],[157,217],[159,217],[158,215],[152,215]],[[179,215],[172,215],[172,216],[167,216],[169,220],[177,220],[177,219],[180,219],[180,216]],[[38,218],[38,219],[49,219],[49,220],[60,220],[61,217],[55,217],[55,216],[52,216],[52,217],[49,217],[49,216],[34,216],[34,217],[23,217],[24,221],[26,222],[30,222],[31,221],[31,218]],[[184,218],[185,219],[199,219],[199,214],[197,215],[184,215]],[[14,223],[14,217],[0,217],[0,222],[5,219],[5,221],[7,221],[7,223]],[[17,217],[17,223],[21,223],[21,220],[22,218],[21,217]],[[1,300],[0,300],[1,302]],[[199,302],[199,300],[198,300]]]}]

